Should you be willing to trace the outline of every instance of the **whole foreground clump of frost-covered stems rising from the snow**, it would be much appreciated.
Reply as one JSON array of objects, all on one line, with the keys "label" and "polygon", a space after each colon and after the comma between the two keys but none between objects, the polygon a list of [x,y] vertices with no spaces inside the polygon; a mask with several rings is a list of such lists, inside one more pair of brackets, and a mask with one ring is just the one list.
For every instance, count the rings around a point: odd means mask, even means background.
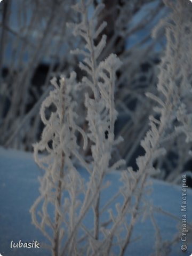
[{"label": "whole foreground clump of frost-covered stems rising from the snow", "polygon": [[[171,4],[173,13],[169,19],[159,25],[166,29],[167,46],[159,65],[159,94],[147,93],[149,98],[157,102],[158,107],[154,108],[155,114],[149,116],[150,127],[141,140],[145,154],[136,159],[137,170],[133,171],[132,167],[129,167],[121,171],[119,175],[123,186],[101,209],[101,192],[110,186],[104,178],[125,163],[123,160],[113,165],[110,163],[113,148],[121,140],[116,139],[114,135],[117,116],[114,97],[115,73],[121,62],[115,54],[110,54],[100,61],[106,45],[106,36],[102,35],[99,39],[99,35],[102,34],[106,23],[98,26],[97,21],[104,6],[99,4],[90,18],[88,13],[91,4],[92,1],[81,0],[74,6],[81,14],[82,22],[71,25],[75,36],[81,36],[85,41],[84,49],[76,49],[73,53],[83,55],[79,67],[85,76],[78,84],[78,89],[87,90],[87,132],[85,134],[81,127],[77,126],[77,109],[73,98],[70,97],[73,86],[77,85],[75,74],[73,73],[70,79],[61,78],[60,85],[54,78],[52,84],[55,89],[50,92],[41,108],[41,118],[45,124],[42,140],[34,146],[36,162],[45,170],[45,174],[41,179],[41,196],[31,208],[33,222],[50,240],[54,256],[114,255],[114,246],[118,247],[118,254],[123,256],[126,255],[135,223],[140,217],[149,215],[156,230],[155,255],[167,255],[170,246],[169,243],[163,246],[165,244],[147,194],[151,184],[149,178],[159,171],[156,162],[166,154],[165,141],[181,132],[186,135],[187,142],[191,141],[191,49],[186,44],[192,35],[189,29],[190,12],[187,3],[178,0],[177,5]],[[186,46],[188,52],[183,46]],[[47,118],[45,108],[51,105],[56,110]],[[82,134],[84,149],[88,141],[91,145],[89,164],[79,154],[77,133]],[[39,152],[45,155],[39,156]],[[87,183],[82,179],[81,170],[77,171],[74,158],[89,173]],[[110,209],[114,198],[122,199],[122,203],[115,205],[115,211]],[[41,220],[36,217],[39,204],[42,204]],[[50,214],[52,207],[54,215]],[[92,230],[88,230],[84,224],[90,212],[93,215]],[[108,217],[105,223],[101,222],[103,212]],[[47,227],[52,230],[51,235]]]}]

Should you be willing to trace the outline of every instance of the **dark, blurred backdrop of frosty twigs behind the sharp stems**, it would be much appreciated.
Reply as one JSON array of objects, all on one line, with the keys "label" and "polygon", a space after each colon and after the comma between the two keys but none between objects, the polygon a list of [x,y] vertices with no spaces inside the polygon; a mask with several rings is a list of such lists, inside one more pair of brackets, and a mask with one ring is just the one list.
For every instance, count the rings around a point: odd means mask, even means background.
[{"label": "dark, blurred backdrop of frosty twigs behind the sharp stems", "polygon": [[[154,102],[146,92],[158,95],[158,63],[166,46],[164,29],[156,38],[151,31],[169,8],[162,0],[94,0],[90,15],[98,3],[106,7],[99,23],[107,21],[103,31],[107,45],[101,54],[105,59],[116,53],[123,62],[117,73],[115,103],[118,118],[116,137],[124,138],[114,151],[114,160],[124,158],[127,166],[137,169],[135,159],[144,154],[140,141],[148,130],[148,117]],[[77,82],[84,73],[79,69],[81,56],[70,50],[82,49],[84,42],[67,28],[68,22],[81,17],[71,9],[75,0],[3,0],[0,4],[0,145],[5,148],[33,151],[43,123],[39,116],[42,101],[51,90],[50,79],[61,74],[69,76],[75,70]],[[95,42],[97,44],[97,42]],[[78,59],[79,58],[79,59]],[[78,103],[78,119],[83,129],[85,121],[84,92],[74,95]],[[53,111],[49,109],[48,111]],[[49,113],[48,113],[49,114]],[[188,174],[191,186],[191,143],[184,135],[164,141],[167,155],[155,163],[161,169],[156,177],[173,183],[181,182],[180,174]],[[81,144],[81,138],[79,138]],[[89,161],[90,149],[84,151]]]}]

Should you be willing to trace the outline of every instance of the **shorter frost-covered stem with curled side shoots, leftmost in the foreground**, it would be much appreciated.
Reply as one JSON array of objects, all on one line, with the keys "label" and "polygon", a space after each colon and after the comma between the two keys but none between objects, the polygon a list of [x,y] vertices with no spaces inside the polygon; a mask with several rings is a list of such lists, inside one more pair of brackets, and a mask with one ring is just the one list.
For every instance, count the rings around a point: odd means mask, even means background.
[{"label": "shorter frost-covered stem with curled side shoots, leftmost in the foreground", "polygon": [[[44,176],[40,179],[41,195],[31,207],[31,214],[35,226],[43,231],[43,234],[51,242],[53,255],[59,254],[60,241],[66,234],[62,229],[63,221],[70,221],[70,228],[75,225],[75,212],[79,207],[78,195],[83,193],[83,180],[71,161],[71,152],[78,149],[76,143],[76,131],[83,135],[85,145],[86,135],[75,123],[77,115],[74,111],[75,103],[70,96],[71,88],[76,85],[75,73],[69,79],[60,78],[57,84],[56,78],[51,83],[54,90],[50,92],[41,106],[41,118],[45,124],[42,139],[34,145],[35,161],[43,170]],[[47,118],[46,109],[50,106],[55,108],[51,116]],[[39,153],[43,155],[39,156]],[[63,191],[68,190],[70,201],[65,199],[63,205]],[[39,212],[41,220],[36,216],[36,210],[42,203]],[[52,207],[53,206],[53,207]],[[48,208],[52,209],[50,213]],[[66,217],[66,212],[69,217]],[[66,214],[66,215],[65,215]],[[49,227],[51,234],[49,233]],[[73,240],[75,236],[73,237]]]}]

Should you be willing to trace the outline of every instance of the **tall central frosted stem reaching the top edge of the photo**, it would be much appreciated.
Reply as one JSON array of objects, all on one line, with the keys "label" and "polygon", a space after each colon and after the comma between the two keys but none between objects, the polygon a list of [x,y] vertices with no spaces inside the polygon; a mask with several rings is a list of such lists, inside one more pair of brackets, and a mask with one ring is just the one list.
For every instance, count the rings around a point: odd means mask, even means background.
[{"label": "tall central frosted stem reaching the top edge of the photo", "polygon": [[[88,20],[88,9],[92,1],[81,1],[76,4],[74,9],[82,14],[82,22],[74,25],[74,34],[80,35],[85,40],[85,49],[75,50],[73,53],[83,54],[83,62],[79,67],[86,72],[82,78],[82,83],[90,87],[93,93],[93,99],[89,94],[85,94],[85,106],[87,108],[87,122],[89,125],[88,137],[91,141],[91,152],[93,171],[90,174],[90,182],[86,191],[86,196],[83,202],[82,212],[86,212],[87,206],[93,202],[94,214],[94,239],[87,248],[89,253],[94,253],[99,243],[100,233],[100,190],[103,186],[103,178],[106,173],[116,170],[124,164],[123,160],[119,160],[113,166],[110,166],[109,161],[113,146],[119,140],[114,138],[114,125],[116,120],[114,93],[115,93],[115,73],[121,65],[116,55],[111,54],[105,61],[99,62],[98,59],[102,50],[106,45],[106,36],[103,35],[100,42],[95,45],[94,39],[98,38],[106,23],[102,22],[98,27],[97,16],[103,9],[103,4],[99,4],[95,9],[93,16]],[[83,214],[84,215],[84,214]],[[104,251],[103,251],[104,252]]]}]

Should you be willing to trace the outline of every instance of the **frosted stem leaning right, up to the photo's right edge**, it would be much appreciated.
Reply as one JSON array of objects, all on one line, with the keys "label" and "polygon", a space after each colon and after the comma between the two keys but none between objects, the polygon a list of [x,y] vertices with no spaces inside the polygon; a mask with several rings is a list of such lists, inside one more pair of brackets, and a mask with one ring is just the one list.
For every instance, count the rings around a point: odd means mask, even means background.
[{"label": "frosted stem leaning right, up to the photo's right edge", "polygon": [[[170,1],[166,1],[170,4]],[[124,203],[118,208],[118,215],[116,218],[111,214],[113,226],[110,229],[110,240],[108,245],[103,243],[103,246],[110,248],[111,241],[115,235],[115,231],[121,224],[125,215],[131,213],[131,220],[126,225],[127,235],[122,241],[120,255],[125,253],[127,245],[129,245],[132,230],[137,221],[147,179],[150,175],[157,173],[155,168],[155,161],[166,153],[163,147],[163,142],[172,137],[173,133],[178,131],[185,132],[186,140],[189,142],[191,138],[191,114],[189,109],[189,102],[191,100],[191,36],[192,33],[190,19],[190,3],[178,1],[177,5],[171,3],[173,13],[169,19],[166,19],[163,25],[166,28],[167,46],[161,64],[159,65],[160,73],[158,75],[157,89],[159,96],[147,93],[148,97],[152,98],[158,103],[155,107],[156,115],[150,116],[150,130],[147,132],[145,138],[141,141],[141,146],[145,149],[145,155],[137,158],[138,170],[133,172],[128,169],[132,177],[129,177],[127,172],[124,172],[123,182],[125,187],[122,190],[124,195]],[[162,23],[160,24],[160,27]],[[155,32],[154,32],[155,33]],[[189,100],[190,99],[190,100]],[[188,103],[188,111],[187,108]],[[186,106],[186,108],[184,107]],[[185,119],[185,121],[184,121]],[[182,126],[174,128],[175,121],[183,123]],[[183,141],[184,143],[184,141]],[[135,202],[131,202],[131,198],[135,197]],[[150,207],[148,207],[148,210]],[[154,223],[154,221],[153,221]],[[158,235],[158,232],[156,232]],[[159,237],[159,235],[158,235]],[[163,246],[161,241],[156,243],[156,254],[162,254]]]}]

